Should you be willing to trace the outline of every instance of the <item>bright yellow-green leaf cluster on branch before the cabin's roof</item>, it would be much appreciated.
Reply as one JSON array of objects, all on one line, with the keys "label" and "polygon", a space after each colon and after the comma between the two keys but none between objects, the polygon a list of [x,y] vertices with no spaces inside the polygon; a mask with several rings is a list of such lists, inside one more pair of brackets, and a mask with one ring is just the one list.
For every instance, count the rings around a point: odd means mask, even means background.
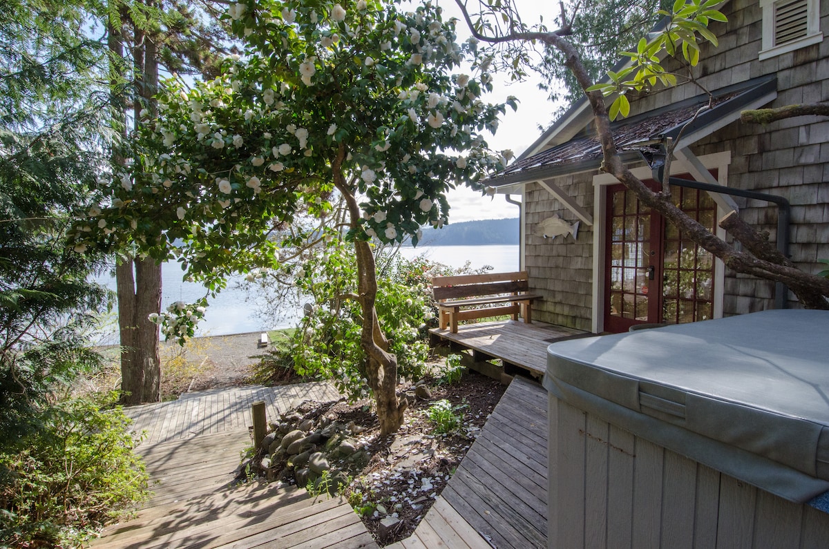
[{"label": "bright yellow-green leaf cluster on branch before the cabin's roof", "polygon": [[619,115],[628,116],[628,92],[650,90],[657,84],[676,85],[677,75],[662,66],[661,52],[681,59],[687,67],[692,67],[700,61],[700,41],[709,41],[717,46],[717,37],[710,32],[708,25],[712,21],[727,21],[725,15],[715,9],[719,3],[718,0],[675,0],[671,12],[659,11],[669,17],[665,29],[651,41],[640,39],[636,51],[624,51],[622,54],[630,57],[633,65],[618,72],[608,70],[608,82],[587,89],[601,91],[605,96],[616,94],[608,109],[611,120]]}]

